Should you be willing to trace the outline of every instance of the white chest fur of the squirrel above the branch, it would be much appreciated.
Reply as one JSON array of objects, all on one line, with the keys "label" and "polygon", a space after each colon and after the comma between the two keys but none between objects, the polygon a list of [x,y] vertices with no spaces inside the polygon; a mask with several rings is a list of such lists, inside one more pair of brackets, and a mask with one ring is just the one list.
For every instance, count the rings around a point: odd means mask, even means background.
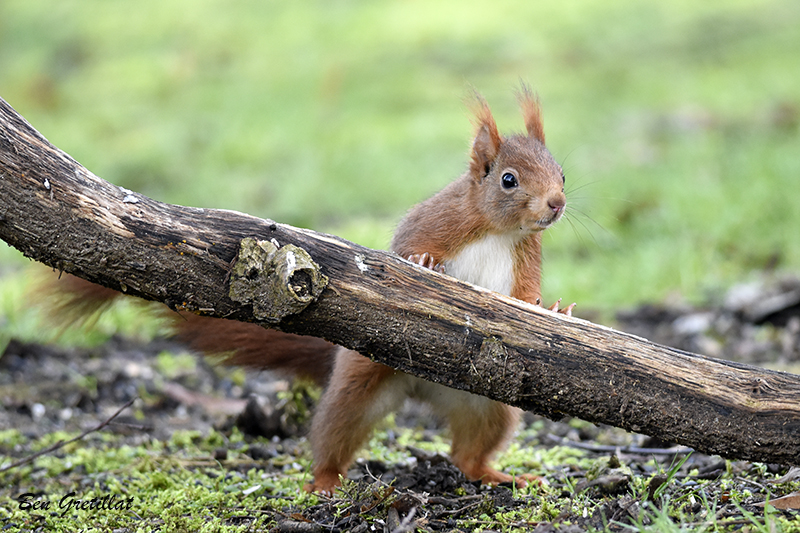
[{"label": "white chest fur of the squirrel above the branch", "polygon": [[465,246],[453,259],[445,261],[448,275],[505,295],[514,286],[514,246],[512,235],[487,235]]}]

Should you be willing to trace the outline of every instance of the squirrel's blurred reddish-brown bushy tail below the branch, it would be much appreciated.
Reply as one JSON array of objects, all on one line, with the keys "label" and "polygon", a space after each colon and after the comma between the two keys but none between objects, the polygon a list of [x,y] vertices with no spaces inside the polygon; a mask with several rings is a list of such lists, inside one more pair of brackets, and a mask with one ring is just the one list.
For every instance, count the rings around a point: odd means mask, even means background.
[{"label": "squirrel's blurred reddish-brown bushy tail below the branch", "polygon": [[[51,312],[66,324],[79,323],[110,305],[122,293],[81,278],[64,275],[43,289],[56,300]],[[316,337],[293,335],[256,324],[179,314],[163,307],[175,337],[193,350],[218,356],[227,365],[275,370],[325,386],[333,369],[336,346]]]}]

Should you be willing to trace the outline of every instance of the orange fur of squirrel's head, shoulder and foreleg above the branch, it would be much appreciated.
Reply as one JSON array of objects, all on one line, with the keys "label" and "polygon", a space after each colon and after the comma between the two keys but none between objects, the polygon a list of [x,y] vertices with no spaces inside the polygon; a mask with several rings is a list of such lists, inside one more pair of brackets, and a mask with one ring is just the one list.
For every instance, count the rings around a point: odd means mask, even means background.
[{"label": "orange fur of squirrel's head, shoulder and foreleg above the branch", "polygon": [[[561,167],[544,146],[538,100],[523,85],[520,93],[527,136],[503,138],[488,104],[480,96],[469,170],[438,194],[415,206],[398,225],[392,251],[402,257],[428,253],[435,263],[455,257],[464,246],[487,234],[528,232],[518,245],[515,272],[519,289],[513,296],[534,302],[539,295],[540,219],[551,222],[553,208],[563,212]],[[519,180],[518,194],[500,190],[497,180],[510,171]]]}]

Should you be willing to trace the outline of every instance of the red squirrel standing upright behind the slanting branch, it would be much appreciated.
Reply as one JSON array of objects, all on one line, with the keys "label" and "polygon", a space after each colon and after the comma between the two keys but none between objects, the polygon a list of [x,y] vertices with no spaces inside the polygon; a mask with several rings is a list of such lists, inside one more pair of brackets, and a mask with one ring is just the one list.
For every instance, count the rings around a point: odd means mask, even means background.
[{"label": "red squirrel standing upright behind the slanting branch", "polygon": [[[427,268],[538,305],[542,231],[564,214],[564,174],[545,148],[538,100],[519,95],[527,134],[503,137],[477,97],[468,170],[400,222],[391,250]],[[570,314],[574,304],[560,312]],[[558,311],[558,302],[550,309]],[[233,364],[305,374],[326,383],[311,425],[314,481],[331,493],[373,426],[406,398],[430,404],[452,432],[451,460],[471,480],[513,478],[493,469],[520,411],[503,403],[399,372],[321,339],[253,324],[191,317],[178,323],[207,352],[233,350]],[[518,485],[535,479],[519,476]]]}]

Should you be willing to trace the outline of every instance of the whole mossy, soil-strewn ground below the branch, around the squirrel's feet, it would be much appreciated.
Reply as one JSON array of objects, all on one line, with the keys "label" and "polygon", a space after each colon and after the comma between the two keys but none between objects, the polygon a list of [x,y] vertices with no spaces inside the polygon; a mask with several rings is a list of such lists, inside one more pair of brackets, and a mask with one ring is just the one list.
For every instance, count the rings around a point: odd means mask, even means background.
[{"label": "whole mossy, soil-strewn ground below the branch, around the squirrel's feet", "polygon": [[[158,337],[14,340],[0,377],[0,468],[138,397],[102,429],[0,472],[0,527],[11,531],[800,531],[797,511],[758,507],[800,491],[796,471],[666,451],[580,420],[526,415],[498,467],[544,484],[480,487],[415,405],[381,425],[341,491],[307,494],[314,391],[209,365]],[[243,434],[253,424],[228,414],[249,397],[277,413],[272,437]]]}]

